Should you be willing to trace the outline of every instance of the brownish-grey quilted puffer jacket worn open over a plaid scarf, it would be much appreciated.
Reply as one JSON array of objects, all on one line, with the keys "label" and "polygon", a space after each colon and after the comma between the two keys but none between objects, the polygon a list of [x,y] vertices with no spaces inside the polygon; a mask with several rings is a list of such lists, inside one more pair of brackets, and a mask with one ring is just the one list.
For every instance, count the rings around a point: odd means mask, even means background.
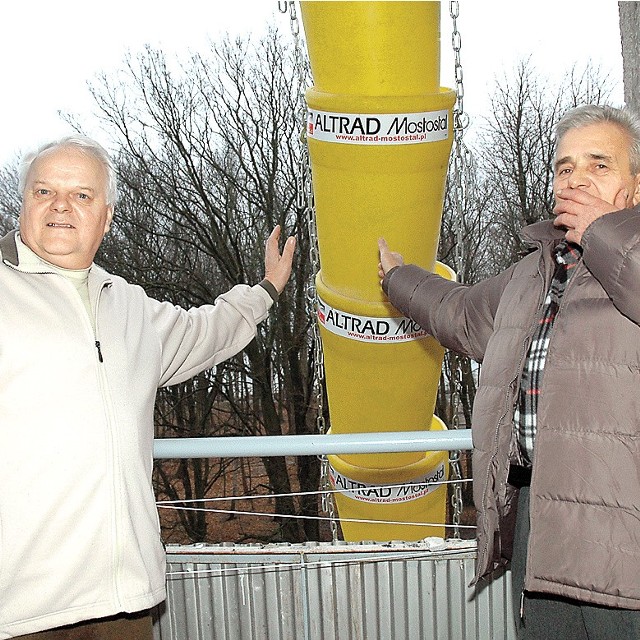
[{"label": "brownish-grey quilted puffer jacket worn open over a plaid scarf", "polygon": [[[474,286],[414,265],[384,282],[397,309],[483,363],[472,421],[477,579],[511,557],[514,405],[563,233],[545,221],[523,236],[535,250]],[[582,244],[540,392],[525,588],[640,609],[639,209],[598,219]]]}]

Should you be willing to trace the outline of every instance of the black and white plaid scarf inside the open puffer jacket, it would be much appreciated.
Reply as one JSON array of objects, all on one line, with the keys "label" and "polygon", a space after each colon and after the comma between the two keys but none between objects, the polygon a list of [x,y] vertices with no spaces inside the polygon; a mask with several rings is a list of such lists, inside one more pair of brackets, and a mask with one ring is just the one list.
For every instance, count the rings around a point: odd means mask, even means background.
[{"label": "black and white plaid scarf inside the open puffer jacket", "polygon": [[544,301],[543,314],[531,338],[531,346],[522,370],[520,391],[513,415],[516,437],[522,458],[527,465],[533,462],[533,443],[536,437],[538,419],[538,397],[542,384],[545,359],[549,349],[549,339],[553,323],[560,308],[567,283],[580,262],[580,247],[562,241],[554,250],[556,268],[551,286]]}]

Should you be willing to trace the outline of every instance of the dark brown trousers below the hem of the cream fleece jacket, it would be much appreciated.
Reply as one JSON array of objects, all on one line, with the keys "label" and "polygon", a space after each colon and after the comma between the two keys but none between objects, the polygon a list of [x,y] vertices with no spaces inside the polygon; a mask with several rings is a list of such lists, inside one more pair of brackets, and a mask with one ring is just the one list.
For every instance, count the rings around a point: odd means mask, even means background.
[{"label": "dark brown trousers below the hem of the cream fleece jacket", "polygon": [[87,620],[68,627],[30,633],[16,640],[153,640],[153,622],[148,611]]}]

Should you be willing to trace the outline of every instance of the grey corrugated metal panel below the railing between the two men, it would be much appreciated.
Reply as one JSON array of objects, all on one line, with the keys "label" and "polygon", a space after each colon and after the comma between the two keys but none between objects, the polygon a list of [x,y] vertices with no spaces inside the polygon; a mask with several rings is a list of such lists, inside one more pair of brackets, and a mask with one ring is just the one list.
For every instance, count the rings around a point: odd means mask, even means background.
[{"label": "grey corrugated metal panel below the railing between the two men", "polygon": [[156,640],[513,640],[470,541],[168,547]]}]

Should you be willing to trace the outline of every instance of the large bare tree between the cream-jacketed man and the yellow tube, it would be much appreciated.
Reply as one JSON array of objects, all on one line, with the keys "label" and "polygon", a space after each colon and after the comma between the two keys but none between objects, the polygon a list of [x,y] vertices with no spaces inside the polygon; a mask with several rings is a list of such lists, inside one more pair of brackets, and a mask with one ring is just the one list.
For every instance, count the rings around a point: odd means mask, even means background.
[{"label": "large bare tree between the cream-jacketed man and the yellow tube", "polygon": [[[309,433],[312,350],[305,284],[309,238],[296,205],[301,152],[296,102],[302,87],[277,31],[260,43],[228,39],[174,66],[148,48],[92,92],[102,123],[119,144],[122,200],[100,260],[155,297],[198,305],[237,282],[263,275],[264,244],[280,224],[298,239],[292,282],[245,351],[192,385],[163,390],[158,435]],[[319,465],[302,458],[290,475],[282,458],[262,460],[284,515],[318,513]],[[205,497],[224,466],[189,461],[160,466],[166,496]],[[206,519],[185,516],[191,539]],[[314,520],[285,518],[276,536],[319,539]]]}]

